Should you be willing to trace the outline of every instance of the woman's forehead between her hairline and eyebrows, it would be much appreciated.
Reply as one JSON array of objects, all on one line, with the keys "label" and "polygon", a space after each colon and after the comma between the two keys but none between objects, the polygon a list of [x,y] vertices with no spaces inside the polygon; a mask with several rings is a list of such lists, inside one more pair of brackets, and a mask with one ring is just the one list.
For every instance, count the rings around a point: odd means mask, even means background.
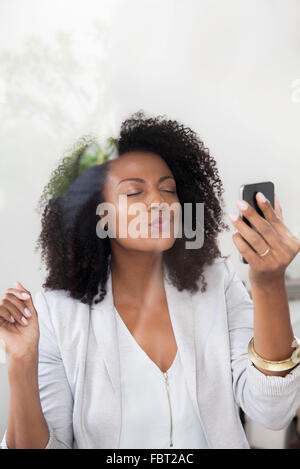
[{"label": "woman's forehead between her hairline and eyebrows", "polygon": [[158,154],[135,151],[124,153],[116,160],[113,160],[109,168],[109,176],[114,180],[127,177],[150,179],[172,176],[172,172]]}]

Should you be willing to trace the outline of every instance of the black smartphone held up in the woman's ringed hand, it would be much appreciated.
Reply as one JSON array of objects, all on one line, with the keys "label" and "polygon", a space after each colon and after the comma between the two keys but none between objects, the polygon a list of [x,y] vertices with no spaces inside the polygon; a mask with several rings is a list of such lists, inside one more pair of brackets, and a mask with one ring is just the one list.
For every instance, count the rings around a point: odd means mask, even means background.
[{"label": "black smartphone held up in the woman's ringed hand", "polygon": [[[240,200],[245,200],[249,205],[251,205],[258,212],[260,216],[265,218],[263,212],[260,210],[256,202],[256,194],[258,192],[262,192],[264,196],[267,199],[269,199],[272,207],[274,208],[274,184],[271,181],[257,182],[255,184],[244,184],[243,186],[240,186],[240,194],[239,194]],[[242,215],[241,213],[240,215],[241,215],[242,220],[248,226],[250,226],[250,228],[257,231],[255,226],[253,226],[244,215]],[[249,244],[247,241],[246,243]],[[251,247],[251,249],[253,248]],[[241,254],[240,254],[240,261],[243,262],[244,264],[248,264],[246,259],[244,259],[244,257]]]}]

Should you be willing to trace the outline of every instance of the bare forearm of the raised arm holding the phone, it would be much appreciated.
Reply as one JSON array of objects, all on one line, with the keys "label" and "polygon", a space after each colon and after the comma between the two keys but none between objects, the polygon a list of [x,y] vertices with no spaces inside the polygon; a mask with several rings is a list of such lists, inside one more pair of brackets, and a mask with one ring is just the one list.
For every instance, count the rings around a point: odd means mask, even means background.
[{"label": "bare forearm of the raised arm holding the phone", "polygon": [[[251,295],[254,303],[255,351],[266,360],[285,360],[291,356],[295,347],[291,347],[294,334],[284,278],[269,285],[252,285]],[[258,369],[266,375],[274,376],[285,376],[291,371]]]}]

